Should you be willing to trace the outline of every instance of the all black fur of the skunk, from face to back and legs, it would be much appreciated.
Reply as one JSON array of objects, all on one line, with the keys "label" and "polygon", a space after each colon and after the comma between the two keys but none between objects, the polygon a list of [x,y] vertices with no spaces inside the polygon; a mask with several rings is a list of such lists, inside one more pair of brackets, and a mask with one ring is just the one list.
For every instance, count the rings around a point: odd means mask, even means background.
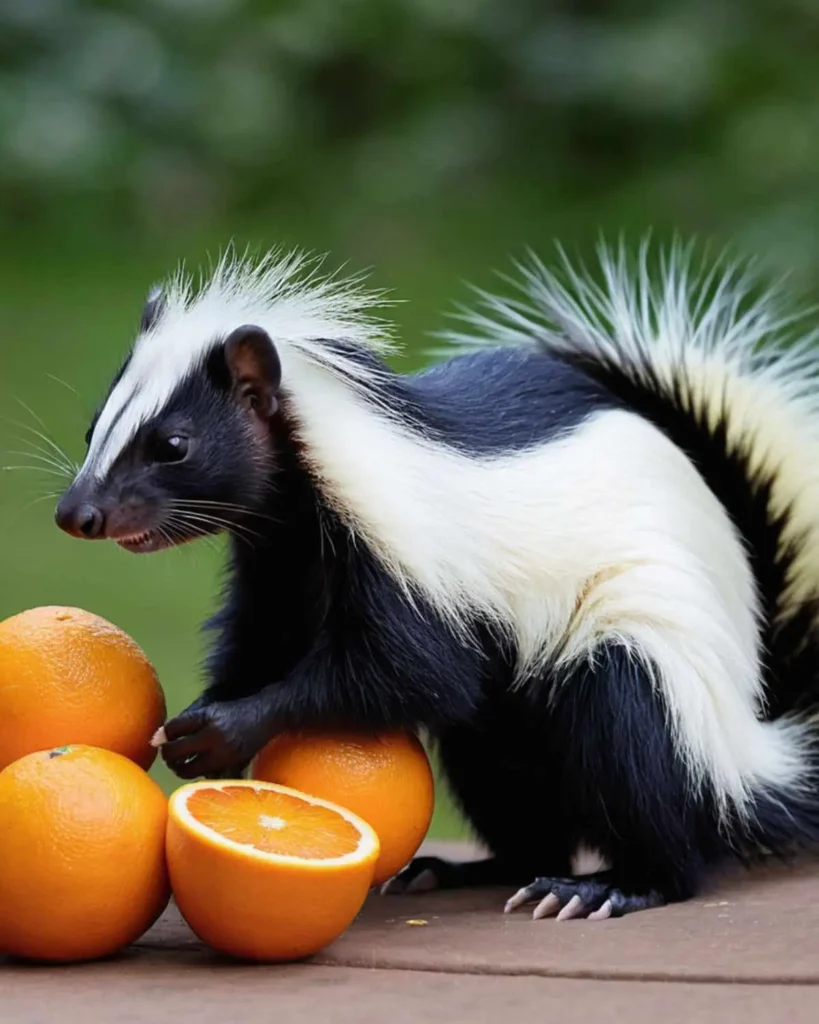
[{"label": "all black fur of the skunk, from face to back and legs", "polygon": [[[653,397],[654,382],[634,385],[605,368],[516,349],[403,378],[370,354],[360,359],[378,370],[364,393],[379,408],[477,455],[543,444],[606,409],[648,417],[690,455],[743,530],[766,615],[774,614],[784,568],[765,482],[749,480],[741,457],[726,453],[721,430],[712,434],[667,396]],[[547,673],[513,688],[515,652],[487,624],[475,622],[457,638],[423,595],[398,589],[326,506],[293,430],[287,380],[266,460],[229,385],[217,348],[98,496],[117,505],[130,494],[132,510],[141,502],[157,521],[172,499],[247,510],[235,523],[223,607],[210,624],[209,686],[165,727],[163,757],[177,774],[242,771],[282,730],[424,727],[493,859],[471,868],[420,862],[396,888],[426,866],[442,885],[531,883],[532,898],[554,892],[561,903],[578,895],[584,912],[606,901],[616,914],[686,899],[729,854],[819,837],[812,794],[801,804],[761,795],[751,827],[734,821],[721,830],[712,795],[693,790],[675,752],[649,667],[616,644],[601,645],[559,686]],[[202,461],[146,468],[152,431],[176,429],[174,417],[186,418]],[[767,635],[770,655],[776,639]],[[779,693],[780,710],[789,710]],[[566,878],[579,842],[610,861],[607,873],[581,884]]]}]

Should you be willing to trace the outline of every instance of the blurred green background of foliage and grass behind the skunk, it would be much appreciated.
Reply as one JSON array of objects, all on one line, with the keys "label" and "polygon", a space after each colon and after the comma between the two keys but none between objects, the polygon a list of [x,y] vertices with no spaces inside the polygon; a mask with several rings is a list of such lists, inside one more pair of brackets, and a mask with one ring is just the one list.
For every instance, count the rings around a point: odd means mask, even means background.
[{"label": "blurred green background of foliage and grass behind the skunk", "polygon": [[218,550],[66,538],[31,443],[80,458],[148,286],[231,239],[372,268],[405,367],[554,240],[696,234],[810,290],[817,53],[813,0],[2,0],[0,615],[89,608],[198,693]]}]

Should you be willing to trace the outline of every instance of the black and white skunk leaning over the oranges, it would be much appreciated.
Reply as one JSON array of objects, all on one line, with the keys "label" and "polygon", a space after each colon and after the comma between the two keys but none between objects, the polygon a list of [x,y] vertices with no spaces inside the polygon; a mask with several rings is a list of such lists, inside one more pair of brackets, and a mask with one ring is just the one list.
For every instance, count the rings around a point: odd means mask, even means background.
[{"label": "black and white skunk leaning over the oranges", "polygon": [[231,535],[180,777],[282,730],[424,730],[490,856],[387,891],[503,885],[535,919],[813,847],[815,337],[742,264],[637,256],[532,256],[412,374],[381,297],[302,254],[150,293],[56,521]]}]

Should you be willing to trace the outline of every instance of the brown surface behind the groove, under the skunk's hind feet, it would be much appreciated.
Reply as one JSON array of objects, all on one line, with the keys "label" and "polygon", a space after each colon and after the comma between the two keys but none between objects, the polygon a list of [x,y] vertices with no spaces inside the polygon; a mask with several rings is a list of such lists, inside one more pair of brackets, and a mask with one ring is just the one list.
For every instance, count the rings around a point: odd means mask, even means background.
[{"label": "brown surface behind the groove, under the skunk's hind feet", "polygon": [[[566,978],[819,984],[819,864],[732,873],[687,903],[603,922],[533,922],[524,907],[504,914],[509,895],[374,896],[318,958]],[[408,919],[429,924],[407,926]]]}]

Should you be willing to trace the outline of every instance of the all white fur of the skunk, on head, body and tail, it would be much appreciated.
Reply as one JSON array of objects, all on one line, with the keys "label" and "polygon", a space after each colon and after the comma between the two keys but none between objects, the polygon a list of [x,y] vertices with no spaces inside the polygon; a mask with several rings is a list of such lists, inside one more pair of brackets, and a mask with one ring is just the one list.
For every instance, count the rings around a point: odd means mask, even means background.
[{"label": "all white fur of the skunk, on head, body and tail", "polygon": [[[804,352],[756,355],[777,322],[766,303],[741,313],[730,275],[697,309],[679,260],[656,292],[643,273],[632,282],[620,263],[603,266],[605,287],[575,274],[574,295],[535,268],[525,276],[530,305],[490,298],[494,318],[473,322],[495,343],[546,339],[626,364],[648,350],[660,376],[685,368],[692,401],[716,412],[724,393],[735,442],[757,464],[779,467],[776,503],[807,530],[791,584],[793,595],[805,592],[819,579],[811,514],[819,506]],[[491,618],[517,643],[521,680],[593,656],[601,641],[626,644],[655,669],[692,784],[710,780],[725,810],[741,812],[761,786],[798,784],[803,727],[757,718],[747,559],[689,460],[640,417],[613,411],[512,455],[470,457],[420,439],[350,382],[360,373],[354,364],[320,344],[385,348],[369,298],[299,282],[297,269],[293,260],[271,258],[260,269],[223,261],[197,294],[172,283],[165,313],[138,339],[103,410],[84,471],[104,474],[220,338],[257,324],[278,347],[283,387],[328,500],[407,594],[423,592],[464,633],[474,615]]]}]

